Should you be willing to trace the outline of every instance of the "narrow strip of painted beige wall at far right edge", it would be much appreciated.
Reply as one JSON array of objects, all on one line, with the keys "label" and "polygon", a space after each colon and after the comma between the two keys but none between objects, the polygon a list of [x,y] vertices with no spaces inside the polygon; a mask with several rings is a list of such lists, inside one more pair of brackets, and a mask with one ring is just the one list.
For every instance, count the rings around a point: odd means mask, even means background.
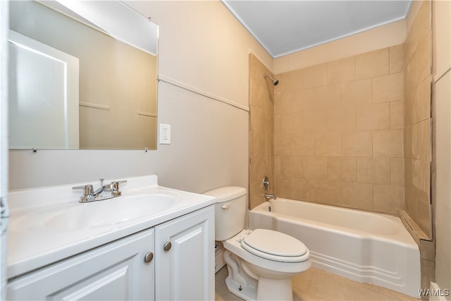
[{"label": "narrow strip of painted beige wall at far right edge", "polygon": [[451,1],[433,1],[432,8],[435,282],[445,289],[451,288]]}]

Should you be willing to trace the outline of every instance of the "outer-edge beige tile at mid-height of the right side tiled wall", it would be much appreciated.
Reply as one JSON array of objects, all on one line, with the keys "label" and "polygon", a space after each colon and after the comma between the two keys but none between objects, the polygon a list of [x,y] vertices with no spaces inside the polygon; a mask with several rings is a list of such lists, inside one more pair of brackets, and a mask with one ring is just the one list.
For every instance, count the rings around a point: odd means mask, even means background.
[{"label": "outer-edge beige tile at mid-height of the right side tiled wall", "polygon": [[412,156],[431,160],[431,119],[412,125]]}]

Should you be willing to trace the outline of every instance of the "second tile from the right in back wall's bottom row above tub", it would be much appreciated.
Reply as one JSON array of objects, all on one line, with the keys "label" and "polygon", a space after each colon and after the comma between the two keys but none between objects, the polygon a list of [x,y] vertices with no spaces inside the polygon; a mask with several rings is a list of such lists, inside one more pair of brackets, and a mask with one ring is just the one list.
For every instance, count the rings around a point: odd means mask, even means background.
[{"label": "second tile from the right in back wall's bottom row above tub", "polygon": [[342,183],[342,205],[345,207],[373,210],[373,185],[362,183]]}]

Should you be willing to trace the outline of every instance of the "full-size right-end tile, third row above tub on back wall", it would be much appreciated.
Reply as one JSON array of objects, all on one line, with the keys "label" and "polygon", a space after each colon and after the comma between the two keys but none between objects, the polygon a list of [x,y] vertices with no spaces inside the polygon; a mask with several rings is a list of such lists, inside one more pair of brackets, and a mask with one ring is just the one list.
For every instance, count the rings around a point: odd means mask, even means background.
[{"label": "full-size right-end tile, third row above tub on back wall", "polygon": [[404,156],[404,130],[375,130],[373,132],[373,156]]}]

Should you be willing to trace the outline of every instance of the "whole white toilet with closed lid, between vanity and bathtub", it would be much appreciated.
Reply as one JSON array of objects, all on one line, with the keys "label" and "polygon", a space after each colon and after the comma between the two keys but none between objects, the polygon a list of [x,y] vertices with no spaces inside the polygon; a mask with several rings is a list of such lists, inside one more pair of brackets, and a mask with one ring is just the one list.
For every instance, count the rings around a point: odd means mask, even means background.
[{"label": "whole white toilet with closed lid, between vanity and bathtub", "polygon": [[284,233],[243,230],[246,192],[230,186],[204,193],[216,197],[215,240],[225,248],[227,288],[244,300],[292,300],[291,277],[309,269],[309,250]]}]

